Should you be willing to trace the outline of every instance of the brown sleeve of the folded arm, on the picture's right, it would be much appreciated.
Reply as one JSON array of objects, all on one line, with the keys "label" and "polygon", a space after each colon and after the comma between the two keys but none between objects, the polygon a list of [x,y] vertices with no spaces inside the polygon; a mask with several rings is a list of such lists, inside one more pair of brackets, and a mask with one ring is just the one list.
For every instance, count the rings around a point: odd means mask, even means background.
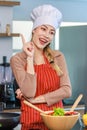
[{"label": "brown sleeve of the folded arm, on the picture's right", "polygon": [[63,75],[60,76],[60,88],[44,95],[48,106],[53,105],[64,98],[69,98],[72,94],[70,78],[64,55],[60,52],[60,55],[55,57],[54,62],[60,67]]}]

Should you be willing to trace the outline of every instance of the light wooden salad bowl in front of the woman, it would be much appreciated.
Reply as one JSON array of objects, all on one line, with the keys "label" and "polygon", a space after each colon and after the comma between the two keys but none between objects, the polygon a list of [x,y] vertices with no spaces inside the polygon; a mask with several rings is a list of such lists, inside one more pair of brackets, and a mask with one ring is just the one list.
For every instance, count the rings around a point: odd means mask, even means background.
[{"label": "light wooden salad bowl in front of the woman", "polygon": [[50,130],[70,130],[74,127],[79,119],[80,113],[67,116],[52,116],[49,114],[40,113],[44,124]]}]

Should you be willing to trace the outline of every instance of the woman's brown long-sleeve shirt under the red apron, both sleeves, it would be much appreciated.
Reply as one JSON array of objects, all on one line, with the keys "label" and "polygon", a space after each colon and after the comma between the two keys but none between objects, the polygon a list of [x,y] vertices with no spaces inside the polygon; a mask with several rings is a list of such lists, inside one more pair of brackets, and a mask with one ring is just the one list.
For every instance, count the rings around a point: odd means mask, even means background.
[{"label": "woman's brown long-sleeve shirt under the red apron, both sleeves", "polygon": [[[25,52],[21,52],[13,56],[10,60],[11,67],[17,83],[22,91],[22,93],[30,98],[34,97],[36,94],[36,79],[38,78],[36,74],[32,75],[25,71],[25,66],[27,63],[27,56]],[[71,83],[68,75],[67,65],[65,62],[64,55],[60,51],[54,51],[54,62],[60,67],[63,75],[60,76],[60,88],[45,93],[44,97],[48,106],[71,96]],[[29,91],[28,91],[29,90]]]}]

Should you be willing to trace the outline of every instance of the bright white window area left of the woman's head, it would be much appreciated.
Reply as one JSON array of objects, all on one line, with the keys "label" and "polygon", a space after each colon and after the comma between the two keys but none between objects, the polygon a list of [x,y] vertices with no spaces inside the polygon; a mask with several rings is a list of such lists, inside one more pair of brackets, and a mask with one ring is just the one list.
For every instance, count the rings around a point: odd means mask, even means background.
[{"label": "bright white window area left of the woman's head", "polygon": [[[13,21],[13,33],[21,33],[25,40],[29,41],[31,38],[33,23],[31,21]],[[22,41],[20,37],[13,37],[13,55],[22,49]]]}]

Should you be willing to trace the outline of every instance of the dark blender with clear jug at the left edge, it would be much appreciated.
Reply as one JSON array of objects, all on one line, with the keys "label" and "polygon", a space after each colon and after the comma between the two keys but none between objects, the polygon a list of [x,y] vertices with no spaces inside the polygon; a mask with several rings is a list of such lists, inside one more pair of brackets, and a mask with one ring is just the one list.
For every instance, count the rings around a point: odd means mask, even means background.
[{"label": "dark blender with clear jug at the left edge", "polygon": [[4,108],[15,107],[13,81],[10,63],[7,63],[7,57],[3,56],[3,63],[0,64],[0,102],[4,103]]}]

